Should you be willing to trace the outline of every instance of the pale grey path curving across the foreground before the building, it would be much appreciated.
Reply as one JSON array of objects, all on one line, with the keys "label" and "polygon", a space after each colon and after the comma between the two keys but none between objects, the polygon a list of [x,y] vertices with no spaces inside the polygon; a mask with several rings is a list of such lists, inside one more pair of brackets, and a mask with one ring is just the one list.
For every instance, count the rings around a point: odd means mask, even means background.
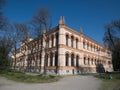
[{"label": "pale grey path curving across the foreground before the building", "polygon": [[65,76],[58,82],[28,84],[0,77],[0,90],[98,90],[101,81],[93,76]]}]

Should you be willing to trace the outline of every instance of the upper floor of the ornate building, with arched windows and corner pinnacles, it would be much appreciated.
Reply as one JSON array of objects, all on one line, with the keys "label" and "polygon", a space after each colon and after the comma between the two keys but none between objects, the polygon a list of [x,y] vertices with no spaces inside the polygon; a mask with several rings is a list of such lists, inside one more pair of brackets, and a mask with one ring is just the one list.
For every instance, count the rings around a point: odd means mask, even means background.
[{"label": "upper floor of the ornate building, with arched windows and corner pinnacles", "polygon": [[66,26],[63,17],[61,17],[58,26],[47,33],[43,33],[41,38],[30,38],[27,42],[21,42],[21,47],[17,52],[18,56],[21,56],[23,55],[22,53],[27,55],[28,53],[34,53],[44,50],[45,48],[56,49],[56,47],[60,47],[60,45],[63,45],[64,48],[81,50],[111,58],[111,51],[95,40],[85,36],[82,30],[77,32]]}]

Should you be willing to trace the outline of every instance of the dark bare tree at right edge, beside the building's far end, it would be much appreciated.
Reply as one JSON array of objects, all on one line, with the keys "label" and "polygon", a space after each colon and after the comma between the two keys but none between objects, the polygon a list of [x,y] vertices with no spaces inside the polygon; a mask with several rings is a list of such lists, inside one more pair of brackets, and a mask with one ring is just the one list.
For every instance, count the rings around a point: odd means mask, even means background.
[{"label": "dark bare tree at right edge, beside the building's far end", "polygon": [[111,22],[105,26],[104,42],[113,52],[112,62],[114,70],[120,70],[120,20]]}]

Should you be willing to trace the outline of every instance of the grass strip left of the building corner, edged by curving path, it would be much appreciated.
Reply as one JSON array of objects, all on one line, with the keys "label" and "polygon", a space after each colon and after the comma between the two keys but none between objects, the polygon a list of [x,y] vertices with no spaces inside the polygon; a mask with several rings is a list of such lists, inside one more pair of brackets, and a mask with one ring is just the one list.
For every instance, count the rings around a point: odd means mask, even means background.
[{"label": "grass strip left of the building corner, edged by curving path", "polygon": [[58,81],[60,76],[52,75],[27,75],[19,71],[3,71],[0,70],[0,76],[6,77],[9,80],[26,83],[50,83]]}]

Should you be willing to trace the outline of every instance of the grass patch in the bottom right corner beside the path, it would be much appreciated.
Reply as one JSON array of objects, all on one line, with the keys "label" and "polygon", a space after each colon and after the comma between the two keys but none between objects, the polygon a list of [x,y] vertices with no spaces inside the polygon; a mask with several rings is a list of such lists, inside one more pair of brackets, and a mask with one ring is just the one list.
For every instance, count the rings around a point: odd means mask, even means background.
[{"label": "grass patch in the bottom right corner beside the path", "polygon": [[102,85],[99,90],[120,90],[120,73],[112,73],[112,79],[110,74],[99,74],[97,78],[102,79]]}]

